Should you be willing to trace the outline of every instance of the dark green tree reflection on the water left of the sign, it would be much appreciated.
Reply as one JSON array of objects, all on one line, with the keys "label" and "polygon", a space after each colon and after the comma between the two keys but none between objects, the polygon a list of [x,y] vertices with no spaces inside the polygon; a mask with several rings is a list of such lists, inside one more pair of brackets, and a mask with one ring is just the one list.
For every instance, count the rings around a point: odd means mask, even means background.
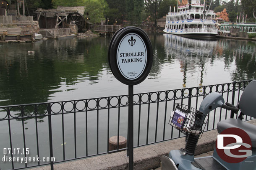
[{"label": "dark green tree reflection on the water left of the sign", "polygon": [[107,63],[101,39],[3,44],[0,49],[0,105],[44,102],[57,92],[76,90],[79,82],[97,83]]}]

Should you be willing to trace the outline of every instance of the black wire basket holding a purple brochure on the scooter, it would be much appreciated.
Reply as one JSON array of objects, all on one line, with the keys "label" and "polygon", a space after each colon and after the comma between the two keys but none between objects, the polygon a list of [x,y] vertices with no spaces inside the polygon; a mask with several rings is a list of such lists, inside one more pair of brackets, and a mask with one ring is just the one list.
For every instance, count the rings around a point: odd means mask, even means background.
[{"label": "black wire basket holding a purple brochure on the scooter", "polygon": [[208,115],[199,112],[191,106],[176,103],[175,110],[169,120],[169,124],[183,134],[203,134]]}]

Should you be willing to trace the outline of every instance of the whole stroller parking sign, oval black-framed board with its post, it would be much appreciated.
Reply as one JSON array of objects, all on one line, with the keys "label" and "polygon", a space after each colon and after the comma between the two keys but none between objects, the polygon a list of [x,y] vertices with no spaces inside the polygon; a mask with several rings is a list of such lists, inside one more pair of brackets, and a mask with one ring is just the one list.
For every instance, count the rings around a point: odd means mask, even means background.
[{"label": "whole stroller parking sign, oval black-framed board with its post", "polygon": [[146,79],[153,63],[149,37],[138,27],[118,30],[108,50],[110,69],[115,78],[128,85],[128,156],[133,170],[133,86]]}]

